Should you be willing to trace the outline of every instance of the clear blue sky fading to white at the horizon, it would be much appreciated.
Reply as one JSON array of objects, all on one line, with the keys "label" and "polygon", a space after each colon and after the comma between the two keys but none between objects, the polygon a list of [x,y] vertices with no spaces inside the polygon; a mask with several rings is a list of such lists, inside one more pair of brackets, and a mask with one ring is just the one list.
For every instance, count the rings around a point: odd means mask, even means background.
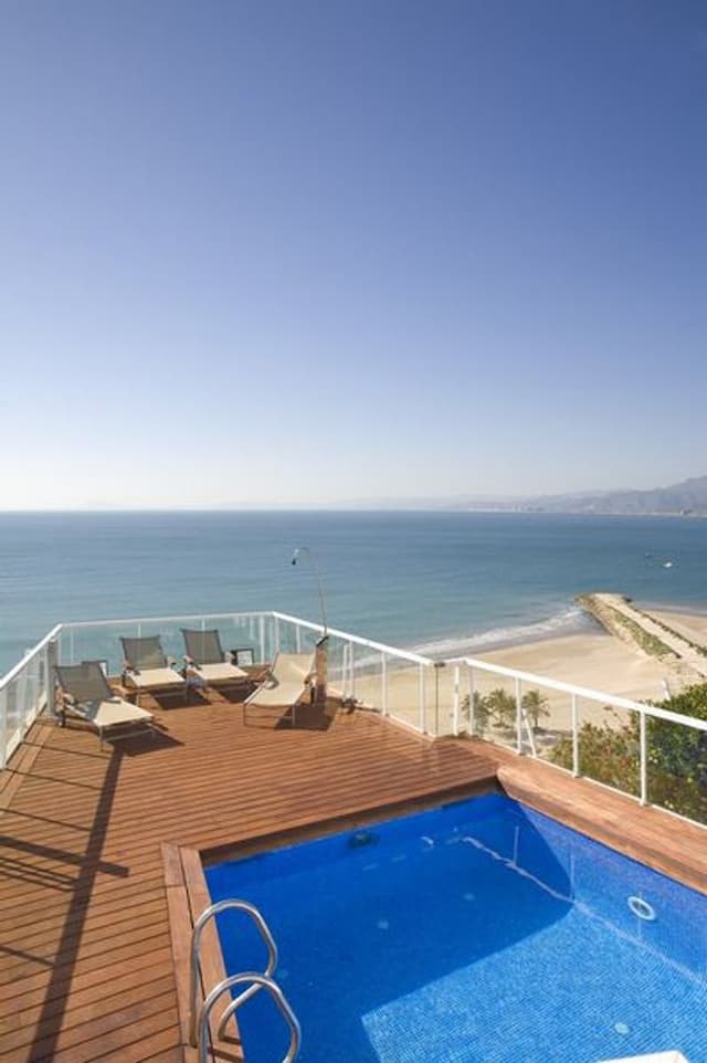
[{"label": "clear blue sky fading to white at the horizon", "polygon": [[2,0],[0,507],[707,472],[707,6]]}]

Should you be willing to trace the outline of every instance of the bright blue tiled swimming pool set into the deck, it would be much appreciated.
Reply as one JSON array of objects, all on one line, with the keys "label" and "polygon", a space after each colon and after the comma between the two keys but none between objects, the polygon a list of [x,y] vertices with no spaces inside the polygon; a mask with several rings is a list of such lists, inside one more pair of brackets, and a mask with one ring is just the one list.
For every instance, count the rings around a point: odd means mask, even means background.
[{"label": "bright blue tiled swimming pool set into the deck", "polygon": [[[303,1063],[707,1061],[707,897],[499,794],[207,878],[268,922]],[[264,969],[242,916],[219,934],[229,973]],[[249,1063],[282,1059],[265,993],[239,1022]]]}]

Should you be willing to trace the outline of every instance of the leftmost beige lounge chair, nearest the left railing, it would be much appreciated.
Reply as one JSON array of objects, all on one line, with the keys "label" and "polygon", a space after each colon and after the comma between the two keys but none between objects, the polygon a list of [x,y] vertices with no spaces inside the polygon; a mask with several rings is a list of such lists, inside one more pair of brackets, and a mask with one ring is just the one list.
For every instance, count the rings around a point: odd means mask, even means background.
[{"label": "leftmost beige lounge chair, nearest the left railing", "polygon": [[62,726],[67,714],[83,719],[97,730],[102,749],[108,733],[115,738],[128,738],[147,729],[155,737],[152,714],[118,697],[108,685],[99,661],[55,665],[54,674]]}]

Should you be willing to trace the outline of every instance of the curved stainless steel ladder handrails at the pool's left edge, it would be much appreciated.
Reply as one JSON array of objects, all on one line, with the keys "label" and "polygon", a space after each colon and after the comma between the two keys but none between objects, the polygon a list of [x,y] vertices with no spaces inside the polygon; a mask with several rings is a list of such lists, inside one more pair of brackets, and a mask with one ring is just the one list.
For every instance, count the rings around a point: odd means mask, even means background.
[{"label": "curved stainless steel ladder handrails at the pool's left edge", "polygon": [[[245,912],[245,914],[253,919],[267,948],[267,966],[263,973],[256,973],[255,971],[243,971],[240,975],[231,975],[229,978],[224,978],[223,981],[220,981],[218,986],[214,986],[213,989],[204,997],[203,1003],[201,1007],[199,1007],[199,954],[201,935],[204,926],[210,919],[212,919],[220,912],[225,912],[229,908],[236,908],[240,912]],[[189,975],[189,1032],[191,1044],[199,1049],[199,1063],[208,1063],[209,1018],[213,1007],[224,992],[228,992],[234,986],[242,986],[245,983],[247,983],[247,989],[244,989],[242,993],[239,993],[239,996],[229,1003],[221,1015],[217,1035],[219,1038],[224,1035],[229,1019],[241,1007],[241,1004],[244,1004],[246,1000],[250,1000],[252,997],[254,997],[255,993],[260,992],[261,989],[265,989],[273,998],[275,1004],[285,1019],[285,1022],[289,1027],[289,1048],[287,1049],[287,1053],[282,1063],[293,1063],[293,1060],[297,1057],[297,1053],[299,1052],[302,1031],[299,1029],[297,1017],[289,1007],[285,994],[277,982],[273,979],[276,967],[277,946],[275,945],[275,939],[271,934],[267,923],[255,905],[250,904],[247,901],[238,901],[232,898],[226,901],[218,901],[215,904],[209,905],[209,907],[201,913],[194,923],[193,930],[191,932],[191,964]]]}]

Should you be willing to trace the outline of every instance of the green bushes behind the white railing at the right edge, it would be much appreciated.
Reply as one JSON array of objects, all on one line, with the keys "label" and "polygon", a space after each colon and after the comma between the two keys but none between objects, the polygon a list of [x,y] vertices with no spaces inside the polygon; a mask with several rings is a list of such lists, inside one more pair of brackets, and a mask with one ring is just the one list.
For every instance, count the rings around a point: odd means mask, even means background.
[{"label": "green bushes behind the white railing at the right edge", "polygon": [[[707,720],[707,684],[690,686],[659,703],[661,708]],[[646,719],[648,800],[707,823],[707,732],[651,716]],[[572,739],[562,738],[550,759],[572,767]],[[579,732],[579,768],[583,776],[626,793],[639,793],[639,714],[619,726],[584,724]]]}]

